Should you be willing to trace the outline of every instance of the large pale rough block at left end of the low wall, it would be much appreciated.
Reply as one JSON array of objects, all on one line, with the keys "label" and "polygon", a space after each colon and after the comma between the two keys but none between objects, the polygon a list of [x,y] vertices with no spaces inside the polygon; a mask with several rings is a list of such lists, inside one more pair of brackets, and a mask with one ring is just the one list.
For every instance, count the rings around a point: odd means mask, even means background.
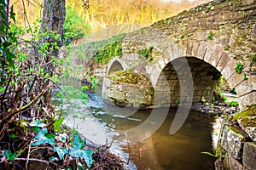
[{"label": "large pale rough block at left end of the low wall", "polygon": [[230,156],[240,160],[242,157],[243,144],[247,141],[247,136],[237,127],[225,125],[222,133],[221,145]]}]

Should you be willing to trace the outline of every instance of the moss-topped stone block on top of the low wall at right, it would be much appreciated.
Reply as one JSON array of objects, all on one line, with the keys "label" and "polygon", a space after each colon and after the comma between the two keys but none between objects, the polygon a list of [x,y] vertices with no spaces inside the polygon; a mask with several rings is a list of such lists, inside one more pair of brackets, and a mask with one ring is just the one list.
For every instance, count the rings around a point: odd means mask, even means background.
[{"label": "moss-topped stone block on top of the low wall at right", "polygon": [[243,116],[237,122],[253,142],[256,142],[256,116]]}]

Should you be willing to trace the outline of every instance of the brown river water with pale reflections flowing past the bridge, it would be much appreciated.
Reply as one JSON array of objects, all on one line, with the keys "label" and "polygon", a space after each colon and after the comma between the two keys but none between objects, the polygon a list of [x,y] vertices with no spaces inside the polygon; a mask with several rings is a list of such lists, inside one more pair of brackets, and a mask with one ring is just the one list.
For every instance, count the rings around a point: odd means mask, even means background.
[{"label": "brown river water with pale reflections flowing past the bridge", "polygon": [[[82,85],[73,82],[76,88]],[[199,170],[214,169],[214,158],[201,152],[212,153],[212,138],[217,134],[213,127],[219,123],[214,116],[189,111],[189,116],[177,133],[170,134],[177,109],[169,109],[165,122],[148,139],[131,144],[132,136],[119,138],[120,131],[137,127],[147,121],[152,110],[132,110],[104,103],[100,96],[101,88],[87,90],[87,104],[79,99],[71,99],[75,105],[64,104],[54,99],[55,110],[66,116],[69,126],[78,128],[88,139],[98,144],[111,144],[113,153],[129,160],[130,169],[157,170]],[[156,109],[161,112],[166,109]],[[140,135],[143,132],[138,132]]]}]

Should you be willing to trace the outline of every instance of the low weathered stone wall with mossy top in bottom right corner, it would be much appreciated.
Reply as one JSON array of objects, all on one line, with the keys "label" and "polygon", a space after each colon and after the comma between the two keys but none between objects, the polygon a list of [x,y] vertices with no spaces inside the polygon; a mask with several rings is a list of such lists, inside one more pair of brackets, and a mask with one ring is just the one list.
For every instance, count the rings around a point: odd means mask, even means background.
[{"label": "low weathered stone wall with mossy top in bottom right corner", "polygon": [[238,122],[238,126],[223,122],[219,159],[223,160],[224,169],[256,169],[256,116],[243,116]]}]

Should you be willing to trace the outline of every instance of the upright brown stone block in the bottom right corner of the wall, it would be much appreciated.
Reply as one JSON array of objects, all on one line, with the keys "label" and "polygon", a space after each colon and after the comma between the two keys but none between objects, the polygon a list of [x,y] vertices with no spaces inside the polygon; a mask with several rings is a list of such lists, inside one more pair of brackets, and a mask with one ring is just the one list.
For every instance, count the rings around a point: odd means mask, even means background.
[{"label": "upright brown stone block in the bottom right corner of the wall", "polygon": [[247,169],[256,169],[256,144],[246,142],[243,146],[242,163]]}]

